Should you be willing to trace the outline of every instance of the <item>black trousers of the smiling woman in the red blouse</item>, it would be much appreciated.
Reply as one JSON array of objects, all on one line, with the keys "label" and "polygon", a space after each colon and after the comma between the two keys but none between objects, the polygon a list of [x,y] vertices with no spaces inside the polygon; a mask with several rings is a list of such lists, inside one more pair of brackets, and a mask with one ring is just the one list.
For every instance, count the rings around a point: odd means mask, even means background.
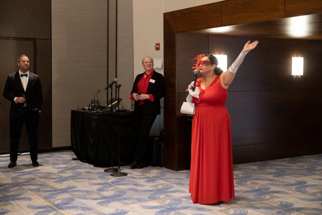
[{"label": "black trousers of the smiling woman in the red blouse", "polygon": [[156,115],[144,114],[142,105],[140,105],[139,112],[136,112],[134,115],[137,133],[137,149],[135,151],[134,161],[148,164],[147,162],[150,158],[148,154],[149,134]]}]

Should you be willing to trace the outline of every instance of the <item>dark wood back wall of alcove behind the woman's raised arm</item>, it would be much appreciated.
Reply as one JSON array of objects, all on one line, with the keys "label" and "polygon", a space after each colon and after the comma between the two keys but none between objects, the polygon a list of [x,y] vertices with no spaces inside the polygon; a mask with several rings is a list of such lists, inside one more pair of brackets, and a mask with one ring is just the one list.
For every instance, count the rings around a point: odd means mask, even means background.
[{"label": "dark wood back wall of alcove behind the woman's raised arm", "polygon": [[[321,47],[321,41],[209,35],[209,54],[226,53],[229,67],[243,45],[255,39],[260,41],[258,47],[246,55],[228,89],[226,107],[232,119],[234,162],[309,154],[302,145],[316,147],[315,152],[320,153],[321,147],[315,142],[322,141],[318,132],[322,117],[318,94],[322,87],[317,84],[322,83],[317,68],[322,51],[316,48]],[[301,77],[291,75],[294,56],[304,57]],[[243,151],[247,147],[259,153],[249,152],[250,158]]]}]

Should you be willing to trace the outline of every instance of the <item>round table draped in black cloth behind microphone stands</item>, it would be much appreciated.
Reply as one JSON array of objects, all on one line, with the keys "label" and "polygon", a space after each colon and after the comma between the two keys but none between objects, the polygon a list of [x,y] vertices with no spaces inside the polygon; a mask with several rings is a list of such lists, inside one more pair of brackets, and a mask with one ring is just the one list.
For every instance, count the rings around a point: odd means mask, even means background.
[{"label": "round table draped in black cloth behind microphone stands", "polygon": [[[99,167],[111,167],[113,129],[113,166],[118,166],[118,112],[71,110],[71,148],[80,161]],[[134,112],[119,113],[120,166],[134,158]]]}]

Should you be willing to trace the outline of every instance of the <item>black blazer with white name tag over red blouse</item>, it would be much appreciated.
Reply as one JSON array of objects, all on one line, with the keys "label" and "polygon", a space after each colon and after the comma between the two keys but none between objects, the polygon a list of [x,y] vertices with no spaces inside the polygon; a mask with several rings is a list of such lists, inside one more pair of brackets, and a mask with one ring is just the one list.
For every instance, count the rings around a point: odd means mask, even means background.
[{"label": "black blazer with white name tag over red blouse", "polygon": [[[139,93],[137,90],[137,83],[140,81],[144,73],[138,74],[135,78],[133,88],[131,91],[132,93]],[[148,99],[144,101],[144,109],[143,113],[145,114],[151,114],[151,115],[158,115],[161,113],[161,105],[160,105],[160,99],[165,97],[166,91],[164,87],[164,78],[163,75],[160,73],[157,73],[156,71],[153,72],[153,75],[151,77],[151,80],[155,80],[154,83],[149,82],[149,86],[147,88],[146,94],[152,94],[154,97],[154,101],[151,102]],[[135,101],[134,103],[134,112],[138,112],[139,109],[139,101]]]}]

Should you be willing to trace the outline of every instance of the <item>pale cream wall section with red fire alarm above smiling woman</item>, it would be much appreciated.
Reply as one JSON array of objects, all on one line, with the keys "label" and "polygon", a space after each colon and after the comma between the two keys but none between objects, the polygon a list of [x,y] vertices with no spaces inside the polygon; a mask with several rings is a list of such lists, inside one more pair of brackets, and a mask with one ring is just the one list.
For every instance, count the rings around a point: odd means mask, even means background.
[{"label": "pale cream wall section with red fire alarm above smiling woman", "polygon": [[[137,74],[143,73],[141,63],[143,57],[149,55],[153,58],[163,58],[163,13],[219,1],[220,0],[133,1],[133,78],[135,78]],[[200,17],[195,17],[195,19],[196,23],[202,20]],[[160,50],[155,50],[154,46],[156,43],[160,43]]]}]

